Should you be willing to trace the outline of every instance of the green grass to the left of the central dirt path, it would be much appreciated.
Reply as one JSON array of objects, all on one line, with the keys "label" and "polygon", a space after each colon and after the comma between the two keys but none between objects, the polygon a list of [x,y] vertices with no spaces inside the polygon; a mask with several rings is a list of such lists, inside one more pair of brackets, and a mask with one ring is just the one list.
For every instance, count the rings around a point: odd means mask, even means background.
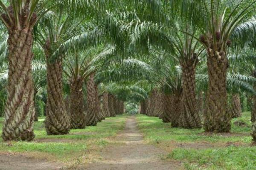
[{"label": "green grass to the left of the central dirt path", "polygon": [[[87,156],[87,153],[99,151],[108,144],[108,137],[116,136],[125,125],[125,115],[114,118],[106,118],[97,126],[85,129],[70,130],[68,135],[47,136],[44,128],[44,117],[35,122],[35,140],[33,142],[6,143],[0,139],[0,152],[18,153],[42,153],[55,157],[60,161],[79,159],[79,156]],[[0,119],[2,127],[3,118]],[[2,131],[0,130],[0,133]],[[89,151],[90,150],[90,151]]]}]

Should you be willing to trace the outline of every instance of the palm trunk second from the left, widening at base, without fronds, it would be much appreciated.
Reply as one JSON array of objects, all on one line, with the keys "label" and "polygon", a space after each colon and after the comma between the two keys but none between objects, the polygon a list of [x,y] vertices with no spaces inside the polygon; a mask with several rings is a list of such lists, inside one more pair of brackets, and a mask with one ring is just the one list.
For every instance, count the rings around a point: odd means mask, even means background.
[{"label": "palm trunk second from the left, widening at base, without fronds", "polygon": [[51,62],[48,57],[45,128],[48,135],[67,134],[70,130],[70,116],[62,93],[62,60]]}]

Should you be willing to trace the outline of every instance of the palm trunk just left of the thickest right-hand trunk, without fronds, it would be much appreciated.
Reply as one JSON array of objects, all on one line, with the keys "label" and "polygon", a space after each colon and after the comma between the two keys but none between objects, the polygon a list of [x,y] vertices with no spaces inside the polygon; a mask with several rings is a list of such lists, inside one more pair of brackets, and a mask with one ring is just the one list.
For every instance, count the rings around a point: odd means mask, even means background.
[{"label": "palm trunk just left of the thickest right-hand trunk, without fronds", "polygon": [[[196,58],[195,58],[196,59]],[[195,59],[182,64],[183,79],[183,128],[201,128],[201,118],[198,113],[198,103],[195,93]]]}]

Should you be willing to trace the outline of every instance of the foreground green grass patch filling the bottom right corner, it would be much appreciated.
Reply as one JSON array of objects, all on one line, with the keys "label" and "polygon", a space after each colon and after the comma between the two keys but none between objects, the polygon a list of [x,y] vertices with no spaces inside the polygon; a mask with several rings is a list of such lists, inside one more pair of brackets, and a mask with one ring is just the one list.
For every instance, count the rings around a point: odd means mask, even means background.
[{"label": "foreground green grass patch filling the bottom right corner", "polygon": [[187,170],[255,170],[256,147],[175,149],[166,159],[184,161]]}]

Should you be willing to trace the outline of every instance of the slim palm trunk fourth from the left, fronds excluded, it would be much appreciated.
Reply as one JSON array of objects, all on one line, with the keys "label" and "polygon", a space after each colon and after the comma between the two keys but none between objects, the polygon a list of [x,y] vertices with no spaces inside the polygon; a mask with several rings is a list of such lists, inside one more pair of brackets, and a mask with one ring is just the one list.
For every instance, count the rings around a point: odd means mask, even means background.
[{"label": "slim palm trunk fourth from the left, fronds excluded", "polygon": [[98,108],[96,104],[96,92],[94,74],[90,75],[86,83],[87,88],[87,126],[97,125]]}]

